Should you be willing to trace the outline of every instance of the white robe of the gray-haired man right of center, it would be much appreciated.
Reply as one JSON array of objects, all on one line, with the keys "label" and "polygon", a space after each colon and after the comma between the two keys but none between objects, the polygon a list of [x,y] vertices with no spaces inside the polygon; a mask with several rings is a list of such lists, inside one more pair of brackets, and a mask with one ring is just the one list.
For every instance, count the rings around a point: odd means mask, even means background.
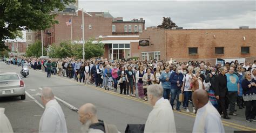
[{"label": "white robe of the gray-haired man right of center", "polygon": [[150,112],[144,132],[176,132],[173,110],[169,100],[159,99]]}]

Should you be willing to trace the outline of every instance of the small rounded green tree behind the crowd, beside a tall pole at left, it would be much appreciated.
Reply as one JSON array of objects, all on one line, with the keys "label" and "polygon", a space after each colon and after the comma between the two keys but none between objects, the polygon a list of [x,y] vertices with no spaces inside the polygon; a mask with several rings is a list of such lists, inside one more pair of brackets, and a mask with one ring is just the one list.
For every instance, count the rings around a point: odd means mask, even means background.
[{"label": "small rounded green tree behind the crowd, beside a tall pole at left", "polygon": [[[46,56],[46,49],[44,48],[44,56]],[[40,57],[42,56],[42,45],[41,41],[36,41],[33,43],[33,45],[29,46],[28,49],[26,49],[26,56],[31,57],[31,56],[36,56]]]}]

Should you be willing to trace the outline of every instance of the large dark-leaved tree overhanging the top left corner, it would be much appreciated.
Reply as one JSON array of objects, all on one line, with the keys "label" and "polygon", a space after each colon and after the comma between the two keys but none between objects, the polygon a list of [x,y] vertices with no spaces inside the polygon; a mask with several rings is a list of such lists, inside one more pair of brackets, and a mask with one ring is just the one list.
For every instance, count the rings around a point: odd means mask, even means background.
[{"label": "large dark-leaved tree overhanging the top left corner", "polygon": [[24,29],[41,30],[57,24],[55,9],[64,10],[65,4],[76,0],[0,0],[0,51],[8,49],[4,40],[21,37]]}]

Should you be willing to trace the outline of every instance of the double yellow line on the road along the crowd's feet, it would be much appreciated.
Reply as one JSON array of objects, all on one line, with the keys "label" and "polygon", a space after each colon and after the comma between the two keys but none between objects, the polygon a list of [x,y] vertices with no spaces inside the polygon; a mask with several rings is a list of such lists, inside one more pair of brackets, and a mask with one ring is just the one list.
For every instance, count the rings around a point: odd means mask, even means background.
[{"label": "double yellow line on the road along the crowd's feet", "polygon": [[[41,72],[41,71],[40,71]],[[43,73],[43,72],[41,72]],[[88,84],[84,84],[84,83],[79,83],[79,82],[75,82],[73,80],[69,80],[69,79],[65,79],[65,77],[58,77],[58,76],[55,76],[57,78],[60,78],[60,79],[64,79],[64,80],[67,80],[69,82],[72,82],[72,83],[78,83],[78,84],[82,84],[84,86],[88,86],[89,88],[94,88],[96,90],[99,90],[99,91],[102,91],[102,92],[106,92],[106,93],[109,93],[109,94],[112,94],[112,95],[116,95],[118,97],[122,97],[122,98],[126,98],[126,99],[130,99],[130,100],[134,100],[134,101],[138,101],[138,102],[142,102],[144,104],[147,104],[147,105],[150,105],[149,102],[146,102],[146,101],[142,101],[142,100],[139,100],[137,98],[133,98],[133,97],[126,97],[124,95],[120,95],[118,93],[115,93],[115,92],[111,92],[111,91],[107,91],[107,90],[102,90],[101,88],[98,88],[96,86],[92,86],[92,85],[88,85]],[[191,117],[196,117],[196,115],[194,113],[184,113],[184,112],[178,112],[176,110],[173,110],[173,112],[176,112],[176,113],[179,113],[179,114],[183,114],[183,115],[187,115],[187,116],[191,116]],[[255,131],[256,129],[254,128],[250,128],[250,127],[246,127],[244,125],[239,125],[239,124],[235,124],[235,123],[232,123],[232,122],[227,122],[227,121],[224,121],[224,120],[221,120],[223,122],[223,125],[225,125],[226,127],[231,127],[231,128],[234,128],[234,129],[239,129],[239,130],[253,130]]]}]

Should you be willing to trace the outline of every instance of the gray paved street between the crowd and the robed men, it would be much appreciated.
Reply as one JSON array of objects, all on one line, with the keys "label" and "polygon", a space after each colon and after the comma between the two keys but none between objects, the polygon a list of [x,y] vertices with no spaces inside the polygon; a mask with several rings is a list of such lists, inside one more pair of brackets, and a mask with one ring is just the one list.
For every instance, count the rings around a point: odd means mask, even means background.
[{"label": "gray paved street between the crowd and the robed men", "polygon": [[[0,62],[0,71],[19,73],[21,67],[6,65]],[[30,75],[23,78],[26,85],[26,99],[19,97],[0,98],[0,107],[5,108],[15,132],[38,132],[39,120],[44,108],[39,97],[42,87],[49,86],[56,95],[65,114],[68,131],[79,132],[80,122],[76,108],[87,102],[95,104],[98,109],[98,119],[115,124],[119,131],[124,132],[127,123],[144,124],[152,107],[137,98],[128,98],[119,92],[105,91],[95,86],[77,83],[74,80],[52,76],[46,78],[46,73],[30,69]],[[138,94],[137,94],[138,95]],[[245,122],[245,109],[238,109],[238,116],[231,120],[223,120],[226,132],[235,130],[256,130],[256,122]],[[177,132],[191,132],[195,115],[174,111]]]}]

